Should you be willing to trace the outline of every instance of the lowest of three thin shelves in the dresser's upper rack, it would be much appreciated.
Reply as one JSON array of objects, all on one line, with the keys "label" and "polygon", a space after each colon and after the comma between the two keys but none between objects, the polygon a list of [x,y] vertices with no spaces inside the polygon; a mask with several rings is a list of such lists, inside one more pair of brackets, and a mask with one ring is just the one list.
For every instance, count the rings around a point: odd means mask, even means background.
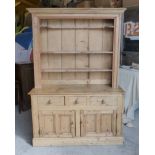
[{"label": "lowest of three thin shelves in the dresser's upper rack", "polygon": [[112,69],[99,69],[99,68],[63,68],[63,69],[50,69],[50,68],[43,68],[42,72],[112,72]]}]

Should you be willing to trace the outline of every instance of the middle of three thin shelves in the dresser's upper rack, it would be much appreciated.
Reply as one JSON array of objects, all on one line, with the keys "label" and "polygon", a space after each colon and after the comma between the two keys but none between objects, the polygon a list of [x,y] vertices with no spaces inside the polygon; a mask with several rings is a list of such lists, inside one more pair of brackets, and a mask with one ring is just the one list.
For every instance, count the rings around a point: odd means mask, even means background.
[{"label": "middle of three thin shelves in the dresser's upper rack", "polygon": [[41,54],[113,54],[113,51],[42,51]]}]

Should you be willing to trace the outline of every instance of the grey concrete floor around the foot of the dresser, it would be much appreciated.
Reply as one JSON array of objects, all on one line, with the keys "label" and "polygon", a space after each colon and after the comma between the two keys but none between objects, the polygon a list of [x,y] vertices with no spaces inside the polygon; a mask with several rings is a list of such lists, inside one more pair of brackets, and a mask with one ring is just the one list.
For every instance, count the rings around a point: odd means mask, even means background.
[{"label": "grey concrete floor around the foot of the dresser", "polygon": [[124,126],[125,142],[113,146],[32,147],[31,111],[19,114],[16,107],[16,155],[138,155],[139,111],[136,111],[133,128]]}]

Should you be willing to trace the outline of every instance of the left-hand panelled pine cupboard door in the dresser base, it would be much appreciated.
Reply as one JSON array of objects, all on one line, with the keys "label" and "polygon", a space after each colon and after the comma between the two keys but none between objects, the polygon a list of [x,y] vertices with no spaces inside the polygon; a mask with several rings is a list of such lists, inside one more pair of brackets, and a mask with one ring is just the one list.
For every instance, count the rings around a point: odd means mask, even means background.
[{"label": "left-hand panelled pine cupboard door in the dresser base", "polygon": [[74,137],[74,111],[40,111],[40,137]]}]

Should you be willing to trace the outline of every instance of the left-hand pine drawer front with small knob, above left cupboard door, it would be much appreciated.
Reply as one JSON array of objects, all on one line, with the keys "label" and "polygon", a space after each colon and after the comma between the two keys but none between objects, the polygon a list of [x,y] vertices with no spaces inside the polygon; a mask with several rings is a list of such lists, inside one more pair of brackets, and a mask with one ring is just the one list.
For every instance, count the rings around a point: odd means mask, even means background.
[{"label": "left-hand pine drawer front with small knob, above left cupboard door", "polygon": [[42,106],[64,105],[64,96],[39,96],[38,104]]}]

